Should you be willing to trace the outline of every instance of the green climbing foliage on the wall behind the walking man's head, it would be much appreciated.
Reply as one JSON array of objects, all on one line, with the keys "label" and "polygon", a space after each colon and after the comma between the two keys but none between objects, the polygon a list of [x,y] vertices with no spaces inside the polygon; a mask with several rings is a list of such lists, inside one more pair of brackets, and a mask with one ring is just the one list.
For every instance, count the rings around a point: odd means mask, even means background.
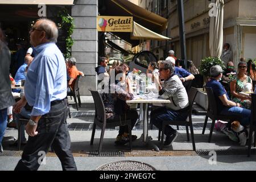
[{"label": "green climbing foliage on the wall behind the walking man's head", "polygon": [[67,52],[64,53],[64,57],[71,57],[71,48],[74,43],[72,34],[75,27],[73,18],[68,14],[66,9],[61,10],[58,16],[61,18],[60,28],[67,32],[67,36],[65,38]]}]

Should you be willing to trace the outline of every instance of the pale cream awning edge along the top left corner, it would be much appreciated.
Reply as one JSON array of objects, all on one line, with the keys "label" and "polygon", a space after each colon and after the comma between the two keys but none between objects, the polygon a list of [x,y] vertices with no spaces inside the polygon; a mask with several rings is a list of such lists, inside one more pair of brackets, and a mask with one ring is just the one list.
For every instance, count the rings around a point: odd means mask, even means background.
[{"label": "pale cream awning edge along the top left corner", "polygon": [[74,0],[1,0],[5,5],[73,5]]}]

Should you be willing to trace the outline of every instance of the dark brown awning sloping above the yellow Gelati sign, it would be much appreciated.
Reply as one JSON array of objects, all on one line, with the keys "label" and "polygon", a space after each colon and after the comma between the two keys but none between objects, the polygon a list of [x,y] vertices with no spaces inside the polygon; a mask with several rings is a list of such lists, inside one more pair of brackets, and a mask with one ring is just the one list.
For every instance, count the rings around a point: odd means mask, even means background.
[{"label": "dark brown awning sloping above the yellow Gelati sign", "polygon": [[168,20],[127,0],[104,0],[99,12],[102,16],[133,16],[133,20],[151,31],[166,30]]}]

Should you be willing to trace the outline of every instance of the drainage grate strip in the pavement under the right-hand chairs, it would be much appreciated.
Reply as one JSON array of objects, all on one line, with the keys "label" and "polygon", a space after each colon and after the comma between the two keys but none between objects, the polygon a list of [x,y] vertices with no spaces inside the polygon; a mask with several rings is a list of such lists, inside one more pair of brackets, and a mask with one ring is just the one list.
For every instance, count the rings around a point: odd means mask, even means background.
[{"label": "drainage grate strip in the pavement under the right-hand chairs", "polygon": [[[217,155],[247,155],[247,148],[242,149],[228,149],[228,150],[212,150],[216,152]],[[197,150],[198,155],[209,155],[210,150]],[[256,148],[251,149],[251,155],[256,154]]]}]

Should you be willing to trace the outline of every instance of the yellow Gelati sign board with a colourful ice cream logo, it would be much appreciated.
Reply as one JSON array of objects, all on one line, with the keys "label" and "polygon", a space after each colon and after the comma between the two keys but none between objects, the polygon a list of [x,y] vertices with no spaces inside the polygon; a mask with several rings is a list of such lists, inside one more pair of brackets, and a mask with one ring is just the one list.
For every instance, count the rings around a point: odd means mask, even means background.
[{"label": "yellow Gelati sign board with a colourful ice cream logo", "polygon": [[101,32],[133,32],[133,16],[98,16],[97,30]]}]

